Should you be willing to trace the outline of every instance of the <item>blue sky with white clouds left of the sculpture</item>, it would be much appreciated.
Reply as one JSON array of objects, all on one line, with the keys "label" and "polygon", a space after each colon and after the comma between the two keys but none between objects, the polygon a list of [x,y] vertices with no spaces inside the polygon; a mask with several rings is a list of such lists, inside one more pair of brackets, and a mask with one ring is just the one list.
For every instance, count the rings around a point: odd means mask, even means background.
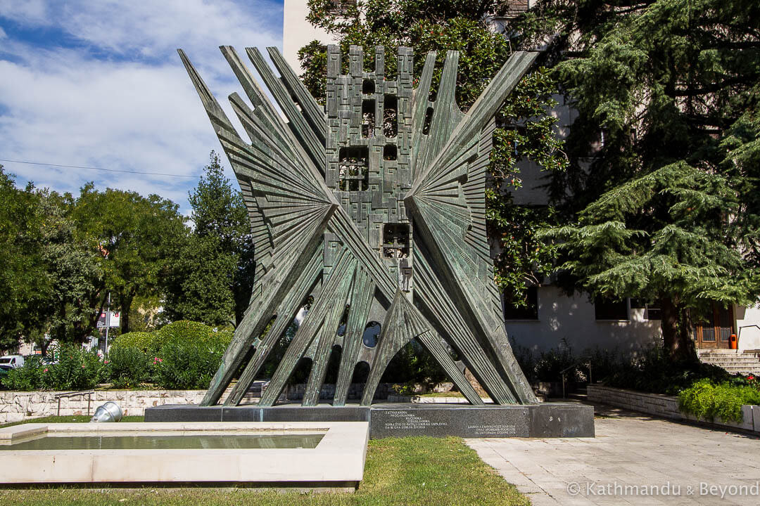
[{"label": "blue sky with white clouds left of the sculpture", "polygon": [[[0,159],[197,176],[220,146],[176,49],[234,119],[226,96],[245,94],[218,46],[281,49],[282,26],[282,0],[0,0]],[[197,181],[0,164],[19,185],[94,181],[182,212]]]}]

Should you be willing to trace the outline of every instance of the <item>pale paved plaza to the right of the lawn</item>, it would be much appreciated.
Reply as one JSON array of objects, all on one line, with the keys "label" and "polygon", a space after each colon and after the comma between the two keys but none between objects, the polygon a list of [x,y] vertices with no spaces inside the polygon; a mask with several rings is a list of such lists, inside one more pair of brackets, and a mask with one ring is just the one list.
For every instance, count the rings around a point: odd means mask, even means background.
[{"label": "pale paved plaza to the right of the lawn", "polygon": [[758,438],[608,407],[595,421],[596,438],[466,442],[534,506],[760,504]]}]

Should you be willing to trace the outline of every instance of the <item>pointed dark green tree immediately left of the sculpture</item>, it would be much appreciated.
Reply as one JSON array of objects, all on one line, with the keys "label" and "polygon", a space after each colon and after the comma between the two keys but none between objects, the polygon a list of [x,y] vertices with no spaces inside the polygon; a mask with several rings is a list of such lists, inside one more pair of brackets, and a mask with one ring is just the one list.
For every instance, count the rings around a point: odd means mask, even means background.
[{"label": "pointed dark green tree immediately left of the sculpture", "polygon": [[224,177],[217,153],[210,158],[188,196],[195,228],[173,257],[165,310],[170,319],[226,325],[248,309],[255,263],[242,194]]}]

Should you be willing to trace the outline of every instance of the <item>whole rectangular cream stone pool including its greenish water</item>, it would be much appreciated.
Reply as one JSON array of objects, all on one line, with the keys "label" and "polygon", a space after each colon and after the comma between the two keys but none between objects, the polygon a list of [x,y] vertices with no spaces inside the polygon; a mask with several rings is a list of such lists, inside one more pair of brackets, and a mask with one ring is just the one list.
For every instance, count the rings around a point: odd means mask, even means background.
[{"label": "whole rectangular cream stone pool including its greenish water", "polygon": [[0,429],[0,485],[356,490],[367,422],[28,423]]}]

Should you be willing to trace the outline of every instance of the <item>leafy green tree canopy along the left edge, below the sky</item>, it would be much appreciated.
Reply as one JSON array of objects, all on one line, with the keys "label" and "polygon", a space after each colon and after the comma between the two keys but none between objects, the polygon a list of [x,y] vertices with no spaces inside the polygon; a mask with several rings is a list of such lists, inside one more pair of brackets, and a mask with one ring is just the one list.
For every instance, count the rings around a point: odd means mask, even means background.
[{"label": "leafy green tree canopy along the left edge, below the sky", "polygon": [[132,300],[160,293],[184,233],[178,206],[159,196],[21,189],[0,167],[0,349],[86,341],[109,291],[127,332]]}]

